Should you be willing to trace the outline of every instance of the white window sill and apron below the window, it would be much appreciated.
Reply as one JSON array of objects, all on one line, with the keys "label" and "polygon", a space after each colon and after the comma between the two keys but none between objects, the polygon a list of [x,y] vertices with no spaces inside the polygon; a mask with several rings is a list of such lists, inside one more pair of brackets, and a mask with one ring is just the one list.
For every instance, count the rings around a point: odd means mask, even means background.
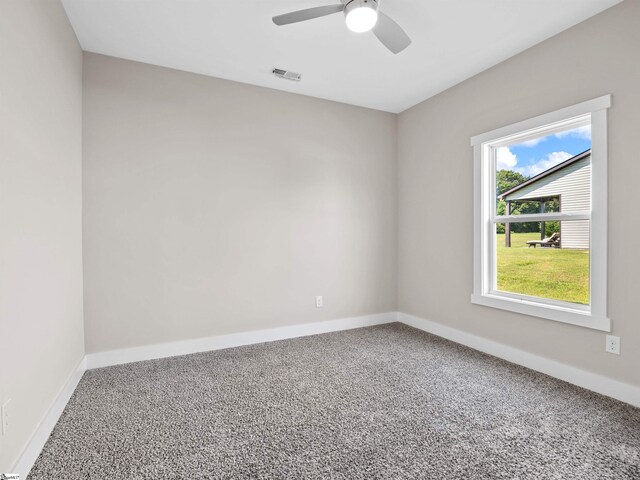
[{"label": "white window sill and apron below the window", "polygon": [[611,331],[611,320],[609,318],[606,316],[593,315],[586,311],[554,305],[543,305],[523,299],[508,298],[491,294],[472,294],[471,303],[483,305],[485,307],[498,308],[500,310],[508,310],[515,313],[522,313],[532,317],[546,318],[547,320],[554,320],[556,322],[579,325],[581,327],[601,330],[603,332]]}]

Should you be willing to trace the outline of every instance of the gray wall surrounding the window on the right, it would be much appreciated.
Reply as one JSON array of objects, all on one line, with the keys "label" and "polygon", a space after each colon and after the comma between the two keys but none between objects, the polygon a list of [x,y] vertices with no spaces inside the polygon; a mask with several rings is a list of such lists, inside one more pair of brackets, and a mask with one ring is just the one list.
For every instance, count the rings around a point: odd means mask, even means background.
[{"label": "gray wall surrounding the window on the right", "polygon": [[[640,2],[626,1],[400,114],[398,303],[403,312],[640,385]],[[609,315],[604,334],[472,305],[469,138],[613,94],[609,116]]]}]

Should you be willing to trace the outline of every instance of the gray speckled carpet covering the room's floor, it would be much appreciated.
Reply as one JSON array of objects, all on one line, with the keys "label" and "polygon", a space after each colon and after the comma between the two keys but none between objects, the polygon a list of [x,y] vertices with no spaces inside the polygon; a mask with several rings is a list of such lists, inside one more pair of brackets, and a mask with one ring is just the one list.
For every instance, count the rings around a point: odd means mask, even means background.
[{"label": "gray speckled carpet covering the room's floor", "polygon": [[85,373],[37,479],[640,479],[640,410],[401,324]]}]

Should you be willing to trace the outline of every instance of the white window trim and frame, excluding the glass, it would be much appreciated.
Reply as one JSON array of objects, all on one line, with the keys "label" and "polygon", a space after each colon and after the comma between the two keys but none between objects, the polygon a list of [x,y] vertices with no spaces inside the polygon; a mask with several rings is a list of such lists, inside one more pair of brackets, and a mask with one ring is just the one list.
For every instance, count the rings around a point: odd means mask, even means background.
[{"label": "white window trim and frame, excluding the glass", "polygon": [[[611,320],[607,317],[607,109],[609,107],[611,107],[611,95],[604,95],[471,138],[474,157],[472,303],[596,330],[611,331]],[[566,121],[563,125],[570,125],[571,122],[576,121],[577,117],[589,114],[591,115],[592,142],[591,212],[558,213],[553,215],[553,219],[590,218],[591,220],[589,228],[590,305],[580,306],[526,295],[493,292],[491,282],[494,272],[488,242],[495,242],[493,222],[501,217],[497,217],[495,210],[491,210],[493,202],[490,201],[489,195],[484,195],[483,191],[487,186],[492,188],[495,182],[495,179],[489,178],[489,172],[492,171],[488,165],[491,160],[490,150],[500,142],[506,142],[510,136],[526,131],[530,132],[533,138],[539,136],[537,131],[547,133],[545,127],[550,124]],[[495,188],[489,191],[495,196]],[[518,219],[522,221],[535,221],[535,218],[536,214],[518,215]],[[546,214],[545,219],[552,218]]]}]

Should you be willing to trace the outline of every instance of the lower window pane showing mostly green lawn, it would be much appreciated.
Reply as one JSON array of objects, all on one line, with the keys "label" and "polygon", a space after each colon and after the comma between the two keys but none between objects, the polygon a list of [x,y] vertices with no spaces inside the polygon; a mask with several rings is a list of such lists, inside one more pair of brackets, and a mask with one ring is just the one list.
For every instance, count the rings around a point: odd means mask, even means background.
[{"label": "lower window pane showing mostly green lawn", "polygon": [[496,224],[495,280],[502,292],[589,304],[589,221]]}]

